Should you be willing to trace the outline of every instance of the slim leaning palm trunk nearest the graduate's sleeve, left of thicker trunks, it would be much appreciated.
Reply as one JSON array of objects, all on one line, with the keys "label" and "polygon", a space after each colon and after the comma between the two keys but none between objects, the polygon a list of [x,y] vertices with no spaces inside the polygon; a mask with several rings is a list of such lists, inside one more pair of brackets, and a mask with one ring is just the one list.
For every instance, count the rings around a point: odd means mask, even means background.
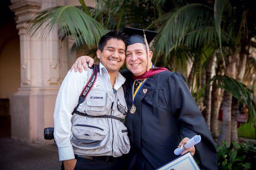
[{"label": "slim leaning palm trunk nearest the graduate's sleeve, left of thicker trunks", "polygon": [[[215,57],[215,52],[212,53],[211,58],[209,59],[206,66],[206,82],[207,83],[212,78],[212,66],[214,62],[214,57]],[[205,108],[203,110],[203,116],[209,129],[211,124],[211,99],[212,99],[211,84],[209,84],[209,86],[207,86],[207,88],[205,89],[205,97],[204,97]]]}]

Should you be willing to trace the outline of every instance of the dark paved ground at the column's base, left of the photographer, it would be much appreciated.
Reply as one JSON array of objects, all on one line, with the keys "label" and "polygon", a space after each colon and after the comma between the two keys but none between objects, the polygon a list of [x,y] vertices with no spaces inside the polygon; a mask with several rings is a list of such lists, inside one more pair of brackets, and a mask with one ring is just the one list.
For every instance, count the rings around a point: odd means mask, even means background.
[{"label": "dark paved ground at the column's base, left of the photographer", "polygon": [[28,144],[12,138],[0,138],[0,170],[60,170],[54,145]]}]

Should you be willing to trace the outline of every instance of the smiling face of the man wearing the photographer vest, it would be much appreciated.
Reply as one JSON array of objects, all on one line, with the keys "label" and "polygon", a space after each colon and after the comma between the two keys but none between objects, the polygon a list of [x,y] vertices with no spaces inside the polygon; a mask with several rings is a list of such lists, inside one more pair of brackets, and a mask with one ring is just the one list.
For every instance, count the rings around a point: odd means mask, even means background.
[{"label": "smiling face of the man wearing the photographer vest", "polygon": [[125,61],[125,43],[111,38],[107,41],[103,51],[97,50],[97,58],[108,72],[118,72]]}]

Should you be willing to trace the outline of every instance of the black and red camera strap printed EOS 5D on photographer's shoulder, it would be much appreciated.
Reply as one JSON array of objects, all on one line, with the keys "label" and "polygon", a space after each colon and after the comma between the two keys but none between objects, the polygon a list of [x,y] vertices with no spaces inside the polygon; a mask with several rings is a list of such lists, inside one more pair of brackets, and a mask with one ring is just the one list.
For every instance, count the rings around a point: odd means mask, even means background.
[{"label": "black and red camera strap printed EOS 5D on photographer's shoulder", "polygon": [[97,79],[98,72],[99,72],[99,65],[93,64],[92,67],[93,67],[93,74],[90,76],[89,80],[87,81],[87,84],[84,86],[84,89],[79,96],[78,104],[76,105],[74,111],[72,112],[72,115],[76,112],[79,105],[84,102],[85,98],[93,88],[93,85]]}]

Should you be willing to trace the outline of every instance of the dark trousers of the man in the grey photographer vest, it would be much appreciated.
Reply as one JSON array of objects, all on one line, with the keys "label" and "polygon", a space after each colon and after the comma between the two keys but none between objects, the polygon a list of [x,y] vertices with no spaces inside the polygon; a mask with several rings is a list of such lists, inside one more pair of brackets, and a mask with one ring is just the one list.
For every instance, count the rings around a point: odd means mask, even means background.
[{"label": "dark trousers of the man in the grey photographer vest", "polygon": [[[76,166],[74,170],[122,170],[119,164],[116,164],[118,160],[115,159],[111,162],[92,160],[87,158],[76,157]],[[64,170],[64,164],[62,161],[61,170]]]}]

